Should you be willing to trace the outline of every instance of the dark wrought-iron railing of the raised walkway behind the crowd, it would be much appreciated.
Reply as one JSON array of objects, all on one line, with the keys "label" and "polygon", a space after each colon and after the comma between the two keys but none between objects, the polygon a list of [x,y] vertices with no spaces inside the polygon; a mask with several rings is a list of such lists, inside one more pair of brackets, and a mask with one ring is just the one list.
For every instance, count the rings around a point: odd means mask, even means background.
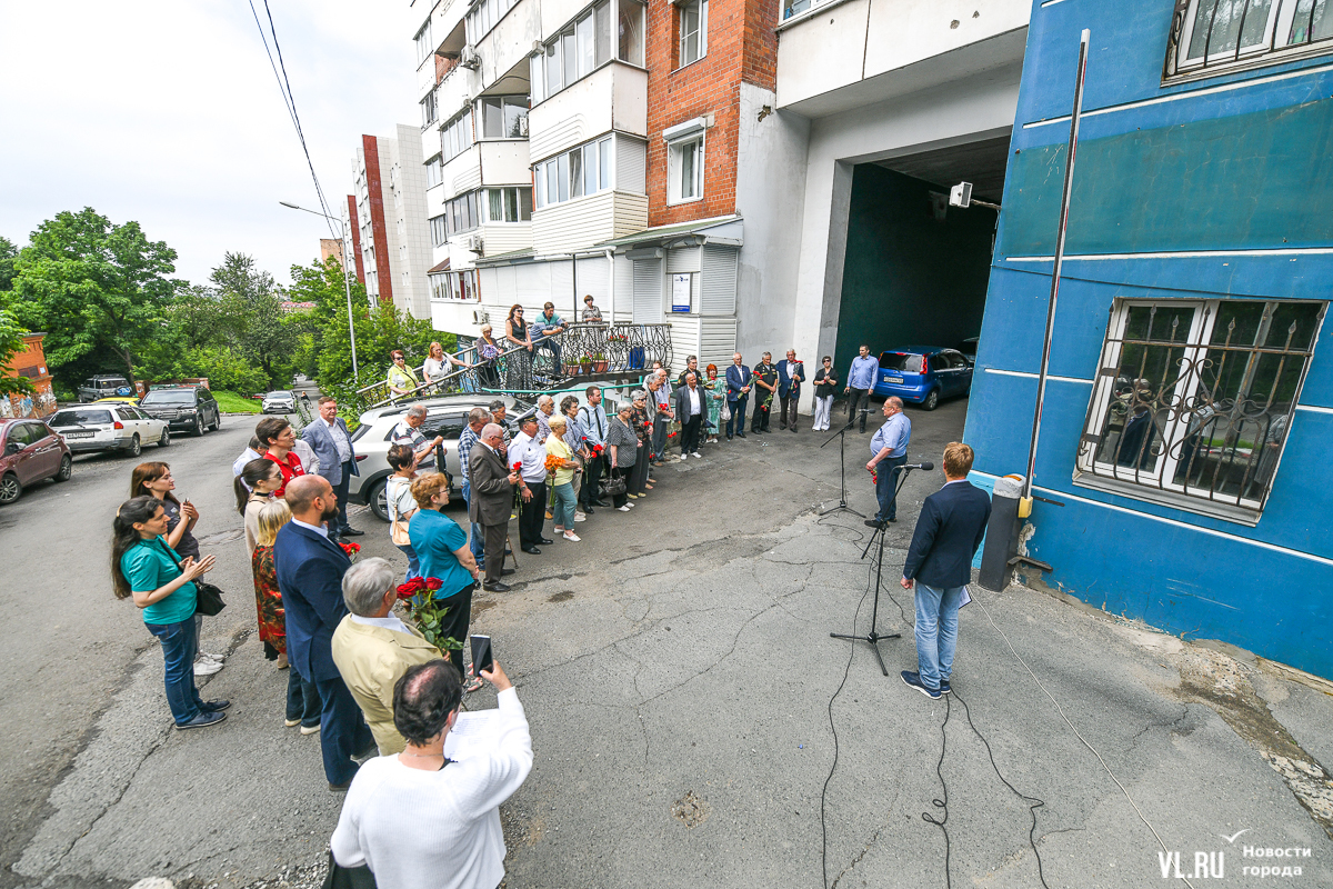
[{"label": "dark wrought-iron railing of the raised walkway behind the crowd", "polygon": [[[455,368],[401,395],[391,393],[388,381],[380,380],[359,389],[357,396],[363,404],[381,408],[445,395],[527,395],[565,387],[580,376],[641,372],[653,361],[669,367],[670,325],[579,323],[536,340],[532,351],[511,344],[500,355],[483,360],[472,345],[455,357],[471,367]],[[424,376],[423,368],[415,371],[417,377]]]}]

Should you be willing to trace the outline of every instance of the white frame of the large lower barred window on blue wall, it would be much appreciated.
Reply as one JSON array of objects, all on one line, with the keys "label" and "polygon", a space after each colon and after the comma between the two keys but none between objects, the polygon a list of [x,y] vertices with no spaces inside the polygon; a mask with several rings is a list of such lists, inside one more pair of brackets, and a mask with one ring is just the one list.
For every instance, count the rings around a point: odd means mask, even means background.
[{"label": "white frame of the large lower barred window on blue wall", "polygon": [[[1204,513],[1214,512],[1209,509],[1210,506],[1217,506],[1222,510],[1249,510],[1250,513],[1257,513],[1264,508],[1268,492],[1272,489],[1273,478],[1276,477],[1276,464],[1272,465],[1272,474],[1269,474],[1265,480],[1264,486],[1258,493],[1258,498],[1241,497],[1240,494],[1228,494],[1212,489],[1204,492],[1198,485],[1190,485],[1186,488],[1186,485],[1176,481],[1177,469],[1180,468],[1182,454],[1185,453],[1182,443],[1185,443],[1189,437],[1190,421],[1197,421],[1200,416],[1213,416],[1212,412],[1200,415],[1196,413],[1196,411],[1198,411],[1200,405],[1204,403],[1212,404],[1210,393],[1206,391],[1206,381],[1202,379],[1200,368],[1208,367],[1205,364],[1205,357],[1209,351],[1218,351],[1218,347],[1212,344],[1210,340],[1220,315],[1218,309],[1224,301],[1233,303],[1241,300],[1144,300],[1117,297],[1114,305],[1112,307],[1110,321],[1106,325],[1106,337],[1102,343],[1102,351],[1098,357],[1098,375],[1093,381],[1088,416],[1084,423],[1084,435],[1080,440],[1078,453],[1074,462],[1076,482],[1086,484],[1089,486],[1112,485],[1116,492],[1124,493],[1129,497],[1141,497],[1148,500],[1166,497],[1170,498],[1172,505]],[[1282,305],[1309,301],[1256,300],[1256,303]],[[1126,396],[1117,396],[1116,388],[1117,385],[1124,387],[1120,369],[1130,311],[1134,308],[1152,308],[1154,305],[1158,308],[1169,307],[1172,309],[1193,309],[1190,329],[1185,332],[1184,336],[1178,336],[1177,340],[1173,340],[1180,343],[1180,359],[1177,360],[1180,373],[1177,375],[1176,385],[1170,389],[1170,392],[1162,392],[1154,400],[1154,404],[1161,403],[1172,405],[1170,409],[1164,409],[1166,419],[1161,429],[1157,431],[1156,423],[1153,424],[1153,437],[1156,441],[1144,448],[1145,454],[1150,450],[1156,456],[1156,460],[1153,461],[1153,466],[1150,469],[1134,465],[1133,460],[1129,465],[1121,465],[1120,461],[1106,462],[1098,458],[1098,450],[1102,443],[1102,431],[1108,425],[1108,415],[1112,411],[1113,404],[1125,404]],[[1325,311],[1326,305],[1318,309],[1318,320],[1310,333],[1306,357],[1304,359],[1298,381],[1294,392],[1292,393],[1292,408],[1288,411],[1288,415],[1284,416],[1289,416],[1290,412],[1294,411],[1294,405],[1300,401],[1301,389],[1305,383],[1305,376],[1309,372],[1310,357],[1314,353]],[[1236,352],[1232,352],[1232,355],[1238,355],[1246,348],[1250,347],[1237,344]],[[1232,357],[1230,360],[1236,359]],[[1124,432],[1121,432],[1121,435],[1122,433]],[[1285,446],[1286,437],[1284,435],[1274,460],[1281,458],[1281,450],[1285,449]],[[1117,445],[1117,450],[1120,449],[1120,445]],[[1124,457],[1122,453],[1117,453],[1116,456]],[[1257,473],[1258,470],[1260,466],[1256,465],[1254,472]],[[1234,516],[1229,516],[1224,512],[1222,517]]]}]

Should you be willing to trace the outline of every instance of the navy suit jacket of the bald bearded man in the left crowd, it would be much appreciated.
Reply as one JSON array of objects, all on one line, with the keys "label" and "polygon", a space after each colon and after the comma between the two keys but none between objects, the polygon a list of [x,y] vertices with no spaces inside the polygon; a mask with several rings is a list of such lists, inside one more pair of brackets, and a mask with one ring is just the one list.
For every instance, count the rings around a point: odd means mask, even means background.
[{"label": "navy suit jacket of the bald bearded man in the left crowd", "polygon": [[292,521],[273,541],[273,573],[287,612],[287,658],[309,682],[339,677],[333,630],[347,616],[343,574],[351,566],[341,546]]}]

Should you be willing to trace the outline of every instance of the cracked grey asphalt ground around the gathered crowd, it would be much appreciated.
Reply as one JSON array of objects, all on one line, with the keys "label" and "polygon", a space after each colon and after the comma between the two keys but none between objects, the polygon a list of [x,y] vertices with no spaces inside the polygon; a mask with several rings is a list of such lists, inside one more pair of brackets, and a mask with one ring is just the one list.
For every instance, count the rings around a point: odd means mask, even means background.
[{"label": "cracked grey asphalt ground around the gathered crowd", "polygon": [[[938,462],[965,409],[909,412],[912,456]],[[317,740],[283,728],[285,674],[253,634],[228,502],[251,425],[227,417],[161,453],[231,593],[205,621],[205,649],[229,653],[207,694],[235,702],[211,732],[171,729],[160,652],[111,596],[108,517],[132,461],[80,458],[72,482],[0,512],[28,565],[0,578],[0,886],[319,885],[341,798]],[[849,439],[849,502],[869,512],[869,436]],[[938,474],[909,480],[886,536],[890,676],[868,644],[829,638],[869,629],[873,568],[860,518],[817,514],[838,496],[822,440],[708,445],[631,513],[581,524],[583,542],[520,553],[513,592],[477,597],[473,632],[495,638],[536,752],[503,809],[509,888],[1128,888],[1161,880],[1164,849],[1185,877],[1221,852],[1244,881],[1246,844],[1309,848],[1280,862],[1302,866],[1292,885],[1333,885],[1333,697],[1317,685],[1024,586],[973,588],[952,700],[902,685],[896,572]],[[384,525],[355,524],[365,554],[401,561]]]}]

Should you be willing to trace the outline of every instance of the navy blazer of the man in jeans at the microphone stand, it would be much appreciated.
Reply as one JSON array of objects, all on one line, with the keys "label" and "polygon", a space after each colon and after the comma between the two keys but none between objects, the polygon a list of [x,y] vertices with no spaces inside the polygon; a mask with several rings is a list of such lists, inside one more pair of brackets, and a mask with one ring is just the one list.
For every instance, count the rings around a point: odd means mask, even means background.
[{"label": "navy blazer of the man in jeans at the microphone stand", "polygon": [[946,484],[921,504],[902,576],[934,589],[966,586],[989,520],[986,492],[968,481]]}]

